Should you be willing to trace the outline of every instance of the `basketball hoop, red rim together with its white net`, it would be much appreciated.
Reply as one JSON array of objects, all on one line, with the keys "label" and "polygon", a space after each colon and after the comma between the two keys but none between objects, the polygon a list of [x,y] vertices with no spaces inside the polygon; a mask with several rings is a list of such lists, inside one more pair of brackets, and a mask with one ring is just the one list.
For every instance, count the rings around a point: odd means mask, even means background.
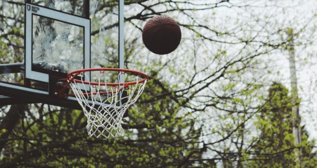
[{"label": "basketball hoop, red rim together with its white net", "polygon": [[[85,72],[97,71],[96,82],[85,81],[89,78]],[[108,71],[117,71],[118,82],[107,82]],[[135,76],[134,81],[125,82],[127,74]],[[134,78],[134,77],[133,77]],[[123,132],[122,119],[128,107],[138,100],[142,94],[148,76],[145,73],[120,68],[90,68],[70,72],[64,88],[57,93],[60,97],[73,96],[77,98],[87,117],[87,130],[90,137],[117,136]],[[65,93],[70,86],[73,93]]]}]

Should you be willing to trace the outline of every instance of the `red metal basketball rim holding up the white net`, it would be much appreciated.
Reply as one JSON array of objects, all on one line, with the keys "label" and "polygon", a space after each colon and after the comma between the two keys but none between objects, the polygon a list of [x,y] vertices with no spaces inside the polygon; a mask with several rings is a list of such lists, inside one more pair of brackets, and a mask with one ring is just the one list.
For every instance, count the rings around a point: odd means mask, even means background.
[{"label": "red metal basketball rim holding up the white net", "polygon": [[[75,77],[77,75],[79,75],[82,72],[87,72],[87,71],[119,71],[119,72],[128,72],[131,73],[135,76],[140,76],[143,79],[139,80],[139,82],[137,81],[130,81],[130,82],[124,82],[124,83],[103,83],[103,82],[89,82],[89,81],[83,81],[83,80],[79,80],[79,79],[75,79]],[[102,72],[104,73],[104,72]],[[72,71],[70,73],[67,74],[67,78],[65,79],[59,79],[58,81],[67,81],[67,84],[64,86],[64,88],[58,93],[58,95],[62,96],[64,95],[64,91],[66,90],[66,88],[70,85],[70,83],[72,81],[75,81],[77,83],[84,83],[87,85],[96,85],[96,86],[122,86],[124,84],[124,87],[128,87],[129,85],[135,85],[137,83],[144,83],[147,79],[148,79],[148,75],[140,72],[140,71],[135,71],[135,70],[130,70],[130,69],[122,69],[122,68],[89,68],[89,69],[80,69],[80,70],[76,70],[76,71]],[[95,93],[90,93],[90,94],[95,94]],[[71,95],[68,95],[71,96]]]}]

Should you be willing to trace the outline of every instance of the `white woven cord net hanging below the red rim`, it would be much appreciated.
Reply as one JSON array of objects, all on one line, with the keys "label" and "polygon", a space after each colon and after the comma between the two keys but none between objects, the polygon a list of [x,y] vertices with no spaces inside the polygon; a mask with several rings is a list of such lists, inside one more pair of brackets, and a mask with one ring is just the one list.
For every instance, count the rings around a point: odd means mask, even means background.
[{"label": "white woven cord net hanging below the red rim", "polygon": [[[120,73],[118,81],[120,81],[120,75],[126,77],[126,74]],[[89,84],[83,83],[83,77],[87,77],[84,72],[80,76],[81,82],[73,80],[70,86],[87,117],[88,135],[105,138],[110,135],[114,137],[118,134],[121,135],[123,116],[128,107],[138,100],[147,80],[141,83],[141,77],[137,75],[134,85],[126,86],[122,82],[118,86],[102,86],[100,83],[107,83],[108,79],[104,71],[100,71],[98,74],[97,82],[89,82]]]}]

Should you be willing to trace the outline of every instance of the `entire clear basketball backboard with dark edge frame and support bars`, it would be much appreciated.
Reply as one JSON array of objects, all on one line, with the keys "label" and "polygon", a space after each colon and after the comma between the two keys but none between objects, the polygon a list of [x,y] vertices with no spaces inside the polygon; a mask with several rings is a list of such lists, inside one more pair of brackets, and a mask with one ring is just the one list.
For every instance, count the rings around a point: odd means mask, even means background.
[{"label": "entire clear basketball backboard with dark edge frame and support bars", "polygon": [[54,95],[56,80],[77,69],[123,68],[123,6],[109,2],[0,2],[0,104],[81,109],[75,97]]}]

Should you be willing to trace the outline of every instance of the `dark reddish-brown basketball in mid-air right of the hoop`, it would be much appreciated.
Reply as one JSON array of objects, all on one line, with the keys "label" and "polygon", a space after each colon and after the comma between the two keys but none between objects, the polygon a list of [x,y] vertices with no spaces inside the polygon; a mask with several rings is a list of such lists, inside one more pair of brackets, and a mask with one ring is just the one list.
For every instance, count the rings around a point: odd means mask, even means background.
[{"label": "dark reddish-brown basketball in mid-air right of the hoop", "polygon": [[146,22],[142,31],[143,43],[156,54],[168,54],[179,45],[182,32],[177,22],[168,16],[155,16]]}]

